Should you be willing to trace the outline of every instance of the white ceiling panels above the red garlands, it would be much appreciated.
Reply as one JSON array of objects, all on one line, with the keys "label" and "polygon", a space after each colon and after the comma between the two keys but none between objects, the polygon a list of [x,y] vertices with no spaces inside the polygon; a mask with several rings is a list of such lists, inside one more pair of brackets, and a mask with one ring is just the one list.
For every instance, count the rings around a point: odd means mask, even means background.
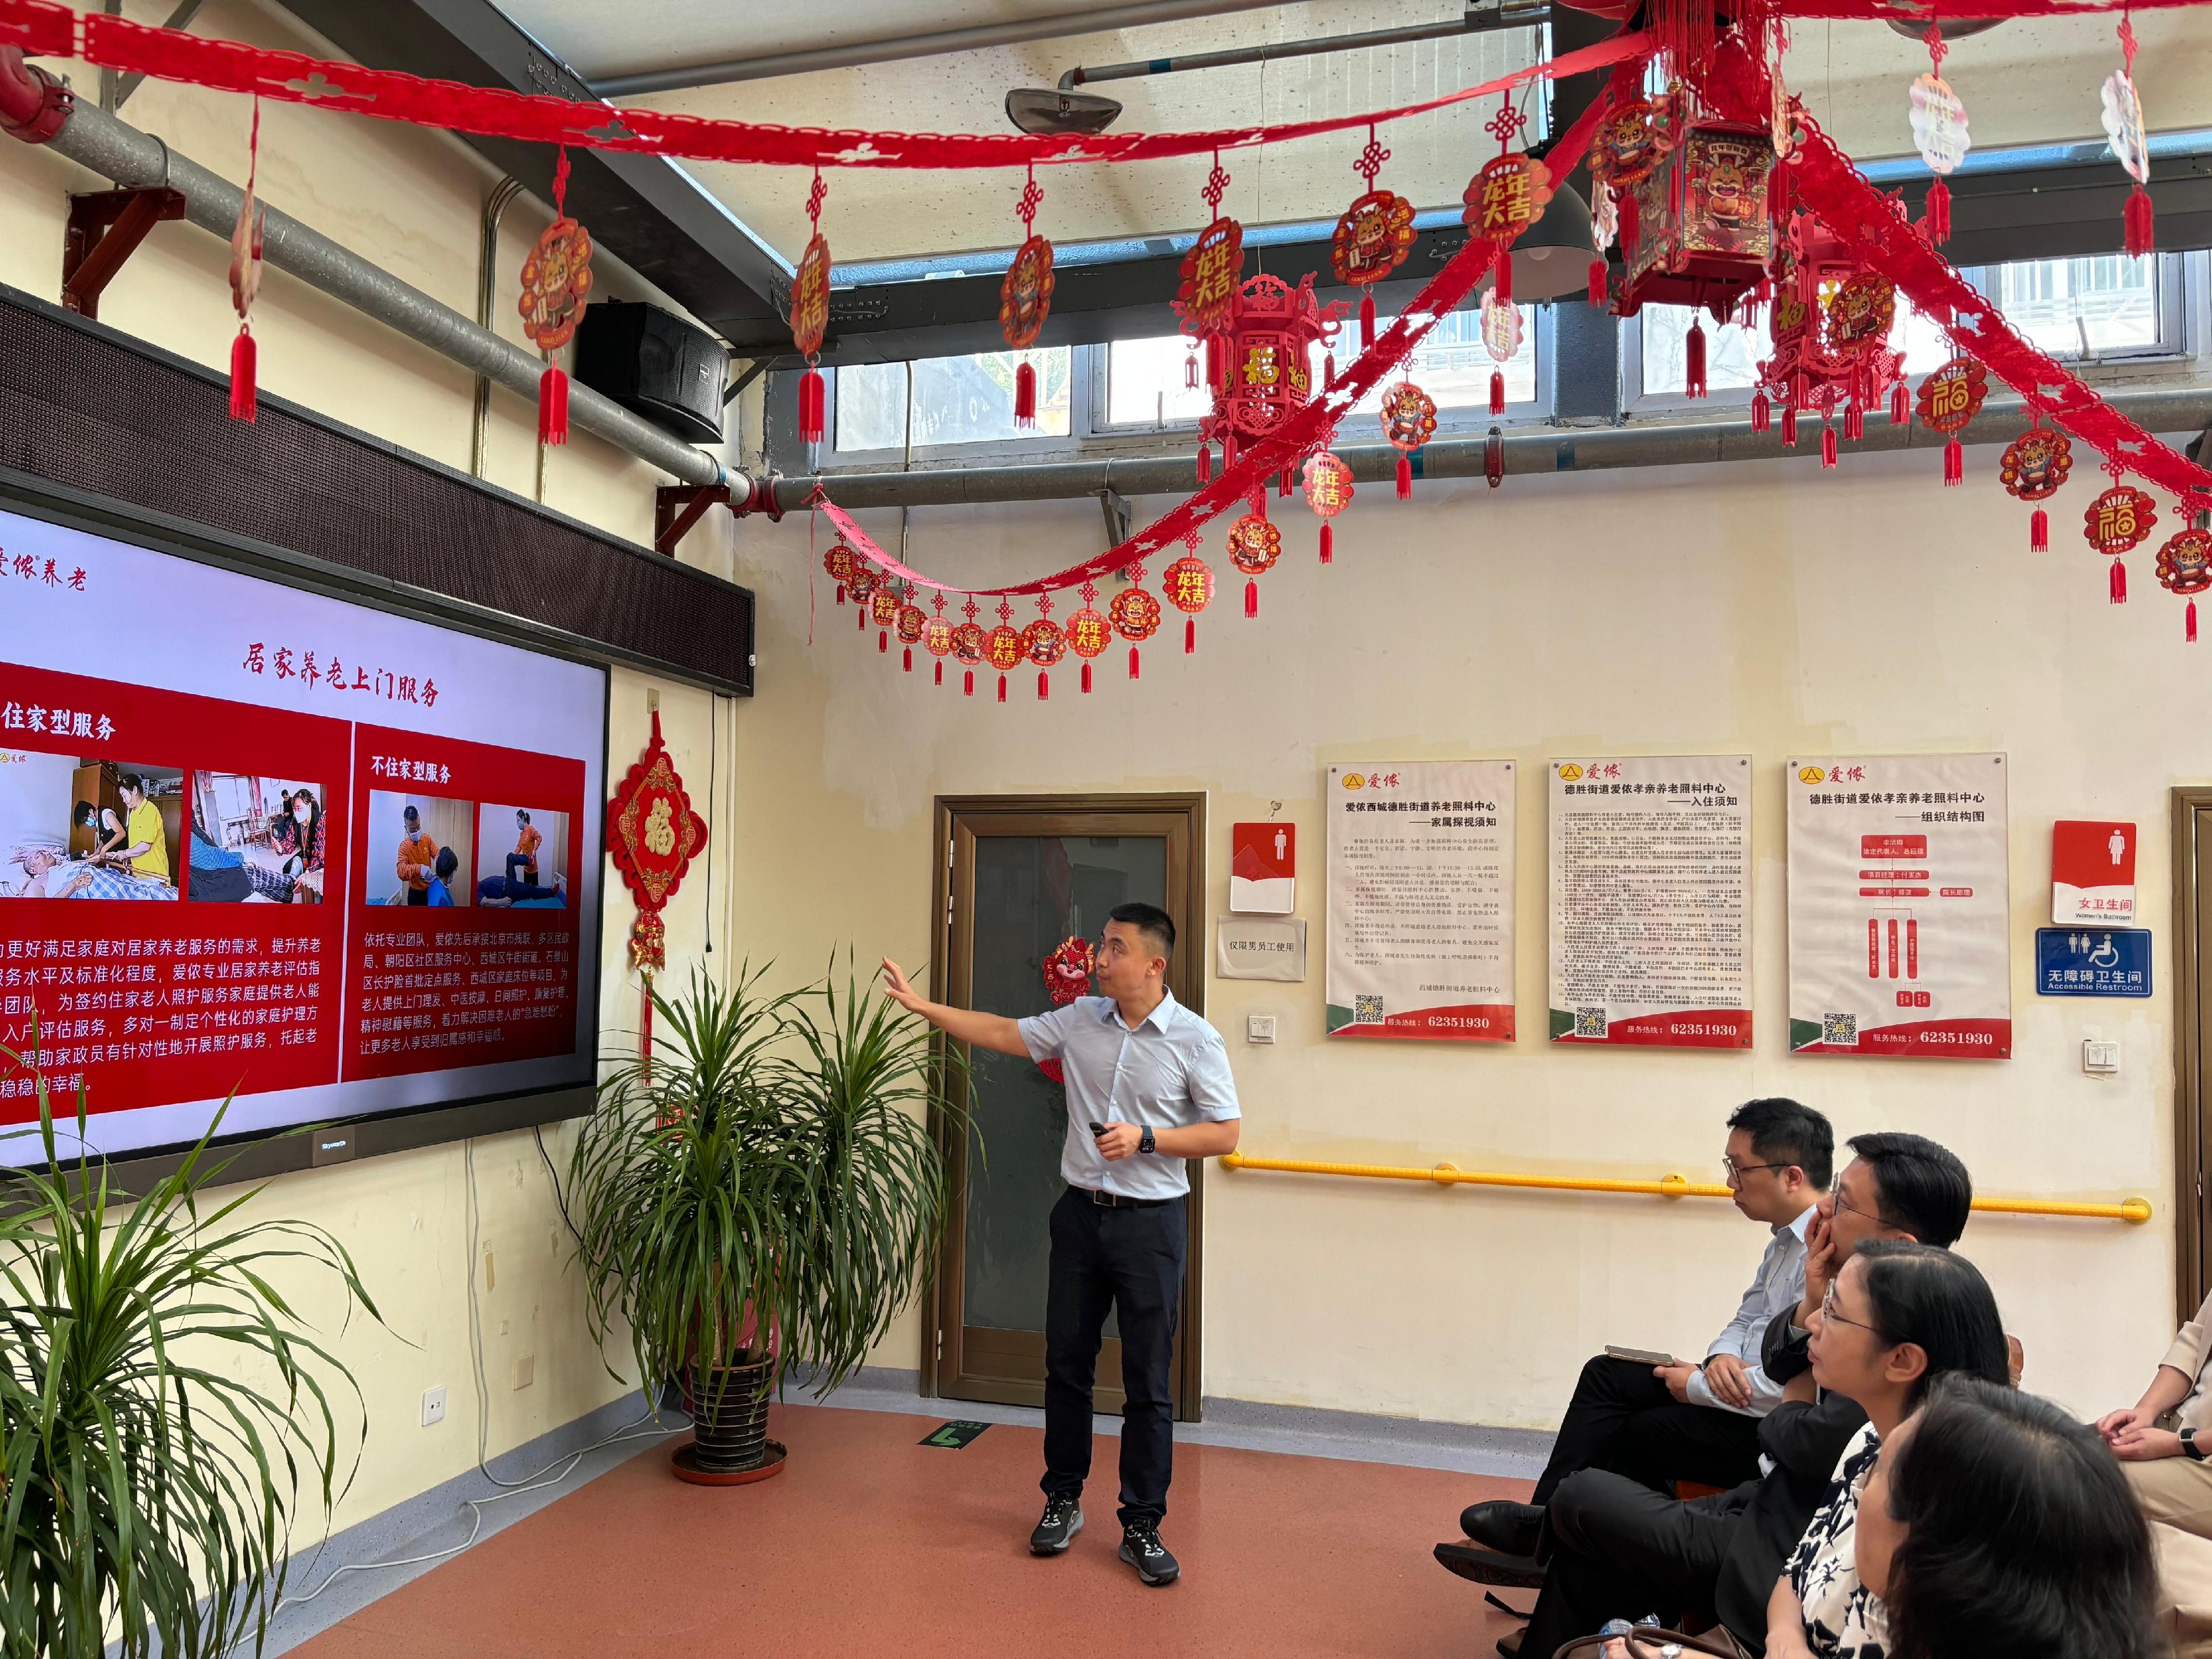
[{"label": "white ceiling panels above the red garlands", "polygon": [[[1002,18],[1060,15],[1099,0],[500,0],[586,77],[637,73],[900,33],[936,33]],[[936,133],[1009,131],[1011,86],[1053,86],[1077,64],[1221,51],[1460,13],[1460,0],[1305,0],[1263,11],[1037,40],[810,75],[657,93],[650,108],[787,126]],[[2137,18],[2137,84],[2152,131],[2212,126],[2212,20],[2197,9]],[[2008,22],[1951,49],[1944,75],[1966,104],[1978,146],[2101,137],[2097,86],[2119,64],[2110,18]],[[1389,108],[1491,80],[1528,62],[1535,31],[1462,35],[1389,51],[1332,53],[1102,82],[1126,104],[1115,131],[1179,131],[1223,122],[1307,119]],[[1798,24],[1785,60],[1792,91],[1863,159],[1905,155],[1905,91],[1927,49],[1882,24]],[[1491,100],[1385,128],[1383,184],[1416,206],[1455,206],[1491,139]],[[1363,188],[1352,159],[1363,133],[1305,139],[1225,159],[1225,210],[1245,223],[1334,217]],[[699,179],[785,259],[805,246],[807,175],[796,168],[692,164]],[[1206,221],[1199,186],[1208,159],[1053,168],[1037,230],[1055,241],[1164,234]],[[1020,241],[1018,175],[847,168],[830,179],[823,230],[838,261],[1009,248]]]}]

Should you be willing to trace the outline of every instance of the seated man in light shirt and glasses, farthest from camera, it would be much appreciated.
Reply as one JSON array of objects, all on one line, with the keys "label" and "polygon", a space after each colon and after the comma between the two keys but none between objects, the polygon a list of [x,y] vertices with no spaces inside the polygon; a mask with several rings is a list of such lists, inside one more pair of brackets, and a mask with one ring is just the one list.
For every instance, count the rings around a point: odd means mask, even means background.
[{"label": "seated man in light shirt and glasses, farthest from camera", "polygon": [[[1805,1294],[1805,1228],[1827,1186],[1836,1133],[1794,1099],[1752,1099],[1728,1119],[1721,1170],[1736,1210],[1770,1228],[1759,1272],[1736,1316],[1699,1365],[1648,1365],[1599,1354],[1582,1367],[1535,1502],[1473,1504],[1460,1515],[1467,1542],[1438,1544],[1436,1559],[1478,1584],[1498,1584],[1495,1557],[1535,1553],[1544,1504],[1577,1469],[1613,1469],[1672,1495],[1677,1480],[1734,1486],[1759,1473],[1759,1420],[1781,1405],[1759,1347],[1776,1314]],[[1526,1564],[1522,1584],[1540,1582]]]}]

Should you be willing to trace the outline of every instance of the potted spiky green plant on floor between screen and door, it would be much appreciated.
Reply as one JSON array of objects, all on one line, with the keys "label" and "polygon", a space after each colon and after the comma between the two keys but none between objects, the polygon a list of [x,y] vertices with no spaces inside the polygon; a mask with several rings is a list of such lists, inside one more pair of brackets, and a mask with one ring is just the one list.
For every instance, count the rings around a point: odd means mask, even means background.
[{"label": "potted spiky green plant on floor between screen and door", "polygon": [[849,964],[843,989],[781,998],[761,973],[728,991],[692,973],[653,1006],[666,1037],[599,1084],[571,1159],[591,1332],[628,1325],[646,1396],[681,1391],[679,1475],[765,1480],[770,1394],[794,1367],[841,1385],[920,1283],[947,1212],[927,1110],[951,1062]]}]

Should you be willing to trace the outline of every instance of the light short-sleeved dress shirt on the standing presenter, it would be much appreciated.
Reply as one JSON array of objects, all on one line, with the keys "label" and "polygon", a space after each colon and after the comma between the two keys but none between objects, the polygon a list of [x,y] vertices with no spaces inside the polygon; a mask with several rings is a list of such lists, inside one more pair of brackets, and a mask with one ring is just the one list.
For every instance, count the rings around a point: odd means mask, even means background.
[{"label": "light short-sleeved dress shirt on the standing presenter", "polygon": [[1241,1117],[1237,1079],[1221,1033],[1170,991],[1137,1029],[1121,1024],[1113,998],[1075,998],[1064,1009],[1020,1022],[1035,1062],[1057,1060],[1068,1088],[1068,1135],[1060,1172],[1068,1186],[1124,1199],[1177,1199],[1190,1190],[1183,1159],[1137,1152],[1108,1164],[1093,1124],[1190,1128]]}]

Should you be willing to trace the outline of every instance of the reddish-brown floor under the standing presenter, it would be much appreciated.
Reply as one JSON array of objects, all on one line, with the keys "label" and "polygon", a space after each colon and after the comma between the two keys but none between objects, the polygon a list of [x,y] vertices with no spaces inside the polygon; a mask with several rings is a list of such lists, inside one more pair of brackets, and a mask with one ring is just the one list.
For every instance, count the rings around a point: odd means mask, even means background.
[{"label": "reddish-brown floor under the standing presenter", "polygon": [[1511,1628],[1429,1546],[1526,1482],[1179,1444],[1161,1537],[1183,1582],[1152,1590],[1115,1559],[1119,1442],[1097,1442],[1084,1535],[1040,1562],[1042,1433],[916,1444],[936,1422],[779,1407],[790,1469],[734,1489],[677,1482],[655,1447],[294,1652],[1480,1659]]}]

